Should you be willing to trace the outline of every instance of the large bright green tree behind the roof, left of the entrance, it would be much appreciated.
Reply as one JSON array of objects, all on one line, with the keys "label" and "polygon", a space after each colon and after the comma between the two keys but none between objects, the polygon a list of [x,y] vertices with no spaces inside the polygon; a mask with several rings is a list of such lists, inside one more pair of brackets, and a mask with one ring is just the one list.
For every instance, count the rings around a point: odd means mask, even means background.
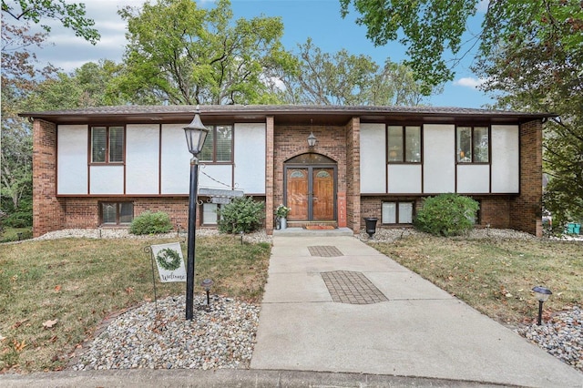
[{"label": "large bright green tree behind the roof, left of the entrance", "polygon": [[120,87],[170,104],[274,102],[263,82],[289,66],[278,17],[231,22],[228,0],[199,9],[190,0],[157,0],[126,7],[128,66]]}]

